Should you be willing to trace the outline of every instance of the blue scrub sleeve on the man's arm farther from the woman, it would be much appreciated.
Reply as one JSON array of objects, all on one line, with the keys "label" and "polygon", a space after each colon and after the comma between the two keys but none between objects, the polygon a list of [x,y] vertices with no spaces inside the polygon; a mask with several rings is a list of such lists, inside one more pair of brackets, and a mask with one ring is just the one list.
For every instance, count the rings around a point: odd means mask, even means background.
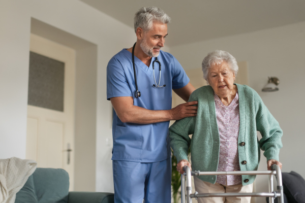
[{"label": "blue scrub sleeve on the man's arm farther from the woman", "polygon": [[123,67],[111,59],[107,65],[107,100],[117,96],[132,96],[132,92]]}]

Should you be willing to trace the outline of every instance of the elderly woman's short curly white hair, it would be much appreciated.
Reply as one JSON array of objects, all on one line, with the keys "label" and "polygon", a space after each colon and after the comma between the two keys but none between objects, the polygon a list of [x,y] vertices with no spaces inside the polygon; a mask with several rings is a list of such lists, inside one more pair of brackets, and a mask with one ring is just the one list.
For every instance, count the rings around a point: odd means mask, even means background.
[{"label": "elderly woman's short curly white hair", "polygon": [[216,50],[210,52],[202,61],[202,72],[204,80],[207,80],[208,70],[211,66],[219,65],[226,61],[229,64],[231,71],[237,76],[238,65],[236,59],[227,51]]}]

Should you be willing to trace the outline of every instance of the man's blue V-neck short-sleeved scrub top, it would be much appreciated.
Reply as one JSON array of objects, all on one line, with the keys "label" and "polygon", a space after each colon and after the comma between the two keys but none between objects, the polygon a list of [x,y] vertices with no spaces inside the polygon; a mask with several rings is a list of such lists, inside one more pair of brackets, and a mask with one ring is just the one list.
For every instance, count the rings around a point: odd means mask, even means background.
[{"label": "man's blue V-neck short-sleeved scrub top", "polygon": [[[172,89],[186,86],[190,79],[184,69],[171,54],[160,51],[161,81],[156,88],[153,75],[153,62],[149,67],[135,56],[138,89],[141,97],[135,98],[136,85],[132,65],[132,54],[126,49],[114,55],[107,65],[107,99],[117,96],[132,96],[134,105],[148,110],[170,110]],[[159,83],[159,63],[155,62],[155,78]],[[136,124],[123,123],[113,110],[113,150],[112,160],[135,162],[156,162],[170,157],[170,140],[168,137],[169,121]]]}]

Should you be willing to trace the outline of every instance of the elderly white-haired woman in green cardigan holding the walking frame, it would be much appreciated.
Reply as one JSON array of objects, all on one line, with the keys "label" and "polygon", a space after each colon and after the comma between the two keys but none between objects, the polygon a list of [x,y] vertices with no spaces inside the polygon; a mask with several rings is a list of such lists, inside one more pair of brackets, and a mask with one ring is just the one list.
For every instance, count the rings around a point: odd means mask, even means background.
[{"label": "elderly white-haired woman in green cardigan holding the walking frame", "polygon": [[[188,162],[191,147],[193,170],[255,171],[260,148],[265,151],[267,169],[282,167],[282,129],[258,93],[246,85],[235,84],[236,59],[225,51],[209,53],[202,62],[204,79],[209,85],[195,90],[189,101],[198,101],[196,117],[176,121],[169,129],[170,145],[177,157],[177,171]],[[257,130],[262,139],[258,141]],[[193,134],[192,139],[189,137]],[[256,176],[194,177],[199,193],[252,192]],[[250,202],[251,197],[204,197],[198,202]]]}]

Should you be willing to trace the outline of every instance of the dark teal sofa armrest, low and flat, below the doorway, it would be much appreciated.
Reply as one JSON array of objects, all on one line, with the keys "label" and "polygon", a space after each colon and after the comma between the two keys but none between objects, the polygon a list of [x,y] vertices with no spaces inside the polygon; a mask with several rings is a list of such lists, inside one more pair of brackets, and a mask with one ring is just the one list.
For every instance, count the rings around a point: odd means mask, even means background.
[{"label": "dark teal sofa armrest, low and flat, below the doorway", "polygon": [[69,192],[68,203],[114,203],[114,194],[108,192]]}]

